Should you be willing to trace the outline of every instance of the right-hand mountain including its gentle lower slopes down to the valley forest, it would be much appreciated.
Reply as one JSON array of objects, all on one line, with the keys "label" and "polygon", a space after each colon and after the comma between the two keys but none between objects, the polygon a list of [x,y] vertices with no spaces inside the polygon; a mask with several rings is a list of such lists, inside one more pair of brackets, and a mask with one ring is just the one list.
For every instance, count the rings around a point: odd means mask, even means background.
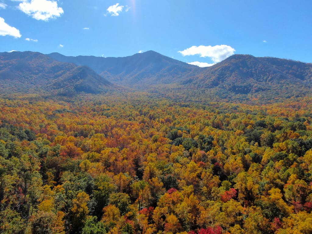
[{"label": "right-hand mountain including its gentle lower slopes down to the valley forest", "polygon": [[177,87],[170,87],[164,93],[183,93],[178,97],[187,100],[201,101],[206,98],[267,103],[311,95],[311,78],[310,63],[233,55],[204,68],[198,75],[182,80]]}]

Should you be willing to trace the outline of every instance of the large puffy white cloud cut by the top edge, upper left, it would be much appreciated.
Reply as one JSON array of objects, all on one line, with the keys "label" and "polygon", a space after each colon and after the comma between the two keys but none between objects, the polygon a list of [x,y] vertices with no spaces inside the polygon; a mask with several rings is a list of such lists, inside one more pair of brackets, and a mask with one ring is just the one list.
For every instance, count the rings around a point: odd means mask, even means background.
[{"label": "large puffy white cloud cut by the top edge, upper left", "polygon": [[56,1],[49,0],[24,0],[19,4],[19,9],[36,20],[48,21],[60,17],[64,13]]}]

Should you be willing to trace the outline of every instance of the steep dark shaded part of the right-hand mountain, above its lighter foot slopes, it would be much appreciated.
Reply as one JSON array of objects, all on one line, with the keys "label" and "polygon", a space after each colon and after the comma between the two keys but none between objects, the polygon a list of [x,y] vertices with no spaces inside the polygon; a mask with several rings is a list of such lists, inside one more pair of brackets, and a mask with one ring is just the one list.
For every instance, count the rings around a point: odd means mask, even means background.
[{"label": "steep dark shaded part of the right-hand mountain, above its lighter foot slopes", "polygon": [[268,90],[272,85],[311,87],[312,65],[271,57],[233,55],[208,67],[191,83],[201,88],[221,86],[236,94]]}]

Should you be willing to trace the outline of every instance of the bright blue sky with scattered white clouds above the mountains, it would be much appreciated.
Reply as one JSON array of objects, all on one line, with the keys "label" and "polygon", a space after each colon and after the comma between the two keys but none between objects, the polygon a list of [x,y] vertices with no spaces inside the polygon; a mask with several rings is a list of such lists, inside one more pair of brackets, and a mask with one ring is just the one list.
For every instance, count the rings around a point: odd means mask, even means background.
[{"label": "bright blue sky with scattered white clouds above the mountains", "polygon": [[305,0],[0,0],[0,51],[154,50],[201,66],[233,53],[312,62],[311,10]]}]

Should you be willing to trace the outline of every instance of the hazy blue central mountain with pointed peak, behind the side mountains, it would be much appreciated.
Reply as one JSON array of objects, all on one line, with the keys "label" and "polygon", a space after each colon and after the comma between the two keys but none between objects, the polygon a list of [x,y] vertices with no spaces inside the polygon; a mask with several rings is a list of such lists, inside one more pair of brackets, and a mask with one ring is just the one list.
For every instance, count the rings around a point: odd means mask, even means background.
[{"label": "hazy blue central mountain with pointed peak, behind the side mountains", "polygon": [[64,56],[51,53],[53,59],[89,66],[102,77],[119,85],[148,88],[150,85],[176,83],[197,74],[198,67],[163,56],[154,51],[127,57]]}]

